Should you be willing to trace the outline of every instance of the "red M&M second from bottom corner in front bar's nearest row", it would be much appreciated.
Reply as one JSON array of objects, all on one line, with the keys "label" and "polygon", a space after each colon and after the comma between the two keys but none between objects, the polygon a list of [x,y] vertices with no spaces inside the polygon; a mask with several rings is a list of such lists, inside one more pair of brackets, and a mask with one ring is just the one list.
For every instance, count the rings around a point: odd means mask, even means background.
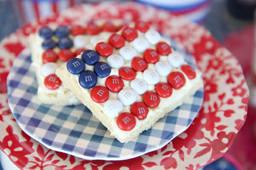
[{"label": "red M&M second from bottom corner in front bar's nearest row", "polygon": [[131,113],[139,120],[143,120],[148,115],[148,107],[143,102],[135,102],[131,105]]}]

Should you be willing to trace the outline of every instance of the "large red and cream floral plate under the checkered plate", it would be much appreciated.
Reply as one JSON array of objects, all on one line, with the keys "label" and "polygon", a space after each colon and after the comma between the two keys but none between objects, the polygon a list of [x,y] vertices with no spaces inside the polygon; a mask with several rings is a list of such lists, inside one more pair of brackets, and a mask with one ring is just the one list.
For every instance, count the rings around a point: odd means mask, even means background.
[{"label": "large red and cream floral plate under the checkered plate", "polygon": [[[83,17],[81,17],[83,16]],[[125,161],[84,160],[50,150],[26,135],[7,103],[6,77],[12,62],[28,46],[28,35],[44,24],[91,19],[146,20],[178,40],[195,56],[204,77],[204,103],[192,125],[159,150]],[[203,27],[168,11],[140,3],[97,3],[26,24],[0,43],[0,147],[20,168],[65,170],[196,169],[220,158],[247,115],[249,91],[238,60]]]}]

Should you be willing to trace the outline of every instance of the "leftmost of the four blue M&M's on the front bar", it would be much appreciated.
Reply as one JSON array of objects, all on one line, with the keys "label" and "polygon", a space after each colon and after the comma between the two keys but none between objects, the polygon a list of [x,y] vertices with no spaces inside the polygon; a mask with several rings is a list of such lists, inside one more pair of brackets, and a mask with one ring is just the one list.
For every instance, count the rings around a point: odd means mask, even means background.
[{"label": "leftmost of the four blue M&M's on the front bar", "polygon": [[85,64],[84,61],[82,59],[79,58],[72,58],[69,59],[67,62],[67,70],[71,73],[71,74],[80,74],[82,71],[84,71],[85,69]]}]

